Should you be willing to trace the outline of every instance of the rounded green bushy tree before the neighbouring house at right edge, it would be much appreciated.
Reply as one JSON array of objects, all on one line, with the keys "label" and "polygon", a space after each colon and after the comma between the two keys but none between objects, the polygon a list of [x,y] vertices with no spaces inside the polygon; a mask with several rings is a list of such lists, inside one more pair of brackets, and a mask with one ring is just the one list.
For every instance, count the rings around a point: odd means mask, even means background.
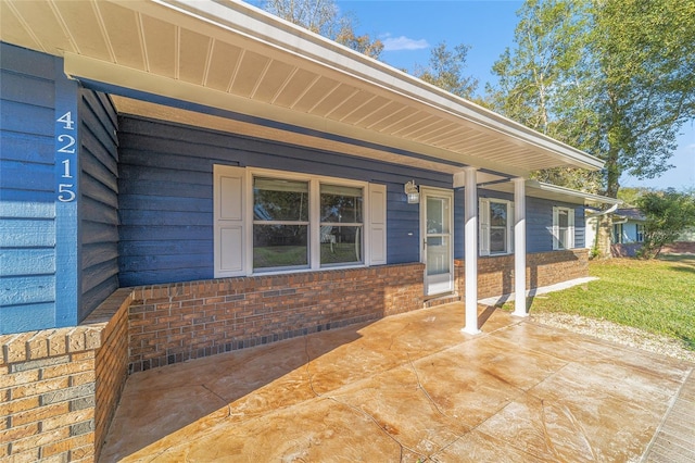
[{"label": "rounded green bushy tree before the neighbouring house at right edge", "polygon": [[649,191],[640,197],[637,205],[646,217],[644,243],[637,254],[643,259],[657,258],[665,245],[695,226],[695,195],[692,192]]}]

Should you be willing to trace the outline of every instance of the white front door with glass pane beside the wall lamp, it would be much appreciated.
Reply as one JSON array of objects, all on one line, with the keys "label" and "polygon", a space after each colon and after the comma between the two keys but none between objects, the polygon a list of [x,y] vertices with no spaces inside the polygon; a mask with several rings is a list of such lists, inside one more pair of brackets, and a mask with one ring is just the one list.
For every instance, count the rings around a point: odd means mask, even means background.
[{"label": "white front door with glass pane beside the wall lamp", "polygon": [[425,263],[425,295],[454,290],[454,193],[420,187],[420,260]]}]

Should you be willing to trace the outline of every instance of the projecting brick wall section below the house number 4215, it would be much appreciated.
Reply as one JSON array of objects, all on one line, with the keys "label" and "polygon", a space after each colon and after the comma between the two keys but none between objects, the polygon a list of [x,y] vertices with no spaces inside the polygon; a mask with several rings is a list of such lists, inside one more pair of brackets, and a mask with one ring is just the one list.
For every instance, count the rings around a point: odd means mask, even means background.
[{"label": "projecting brick wall section below the house number 4215", "polygon": [[84,325],[0,336],[0,461],[96,460],[127,377],[130,292]]}]

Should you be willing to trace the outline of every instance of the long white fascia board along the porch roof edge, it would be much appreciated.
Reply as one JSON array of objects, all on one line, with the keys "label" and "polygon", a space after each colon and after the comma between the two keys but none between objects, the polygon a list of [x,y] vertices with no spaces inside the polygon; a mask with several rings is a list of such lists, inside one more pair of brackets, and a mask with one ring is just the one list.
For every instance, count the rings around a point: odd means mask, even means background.
[{"label": "long white fascia board along the porch roof edge", "polygon": [[[156,7],[165,7],[170,12],[178,13],[167,17],[172,22],[184,21],[182,14],[192,16],[251,40],[261,40],[300,59],[333,68],[368,85],[405,96],[435,110],[464,118],[481,128],[504,134],[521,143],[549,151],[563,162],[577,167],[595,171],[604,165],[602,160],[584,151],[241,1],[233,0],[227,4],[213,0],[150,0],[148,2],[119,0],[117,2],[131,10],[153,14],[159,18],[163,18],[163,12]],[[156,11],[152,11],[151,7],[156,8]]]}]

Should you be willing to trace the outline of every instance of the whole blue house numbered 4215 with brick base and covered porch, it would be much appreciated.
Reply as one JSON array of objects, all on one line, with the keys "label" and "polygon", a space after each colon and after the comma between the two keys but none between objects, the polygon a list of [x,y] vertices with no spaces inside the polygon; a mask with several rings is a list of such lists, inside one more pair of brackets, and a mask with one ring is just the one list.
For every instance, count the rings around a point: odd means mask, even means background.
[{"label": "whole blue house numbered 4215 with brick base and covered porch", "polygon": [[525,315],[615,203],[528,179],[598,159],[243,3],[2,15],[0,388],[36,399],[2,396],[11,456],[98,455],[128,372],[458,300],[476,334],[504,293]]}]

